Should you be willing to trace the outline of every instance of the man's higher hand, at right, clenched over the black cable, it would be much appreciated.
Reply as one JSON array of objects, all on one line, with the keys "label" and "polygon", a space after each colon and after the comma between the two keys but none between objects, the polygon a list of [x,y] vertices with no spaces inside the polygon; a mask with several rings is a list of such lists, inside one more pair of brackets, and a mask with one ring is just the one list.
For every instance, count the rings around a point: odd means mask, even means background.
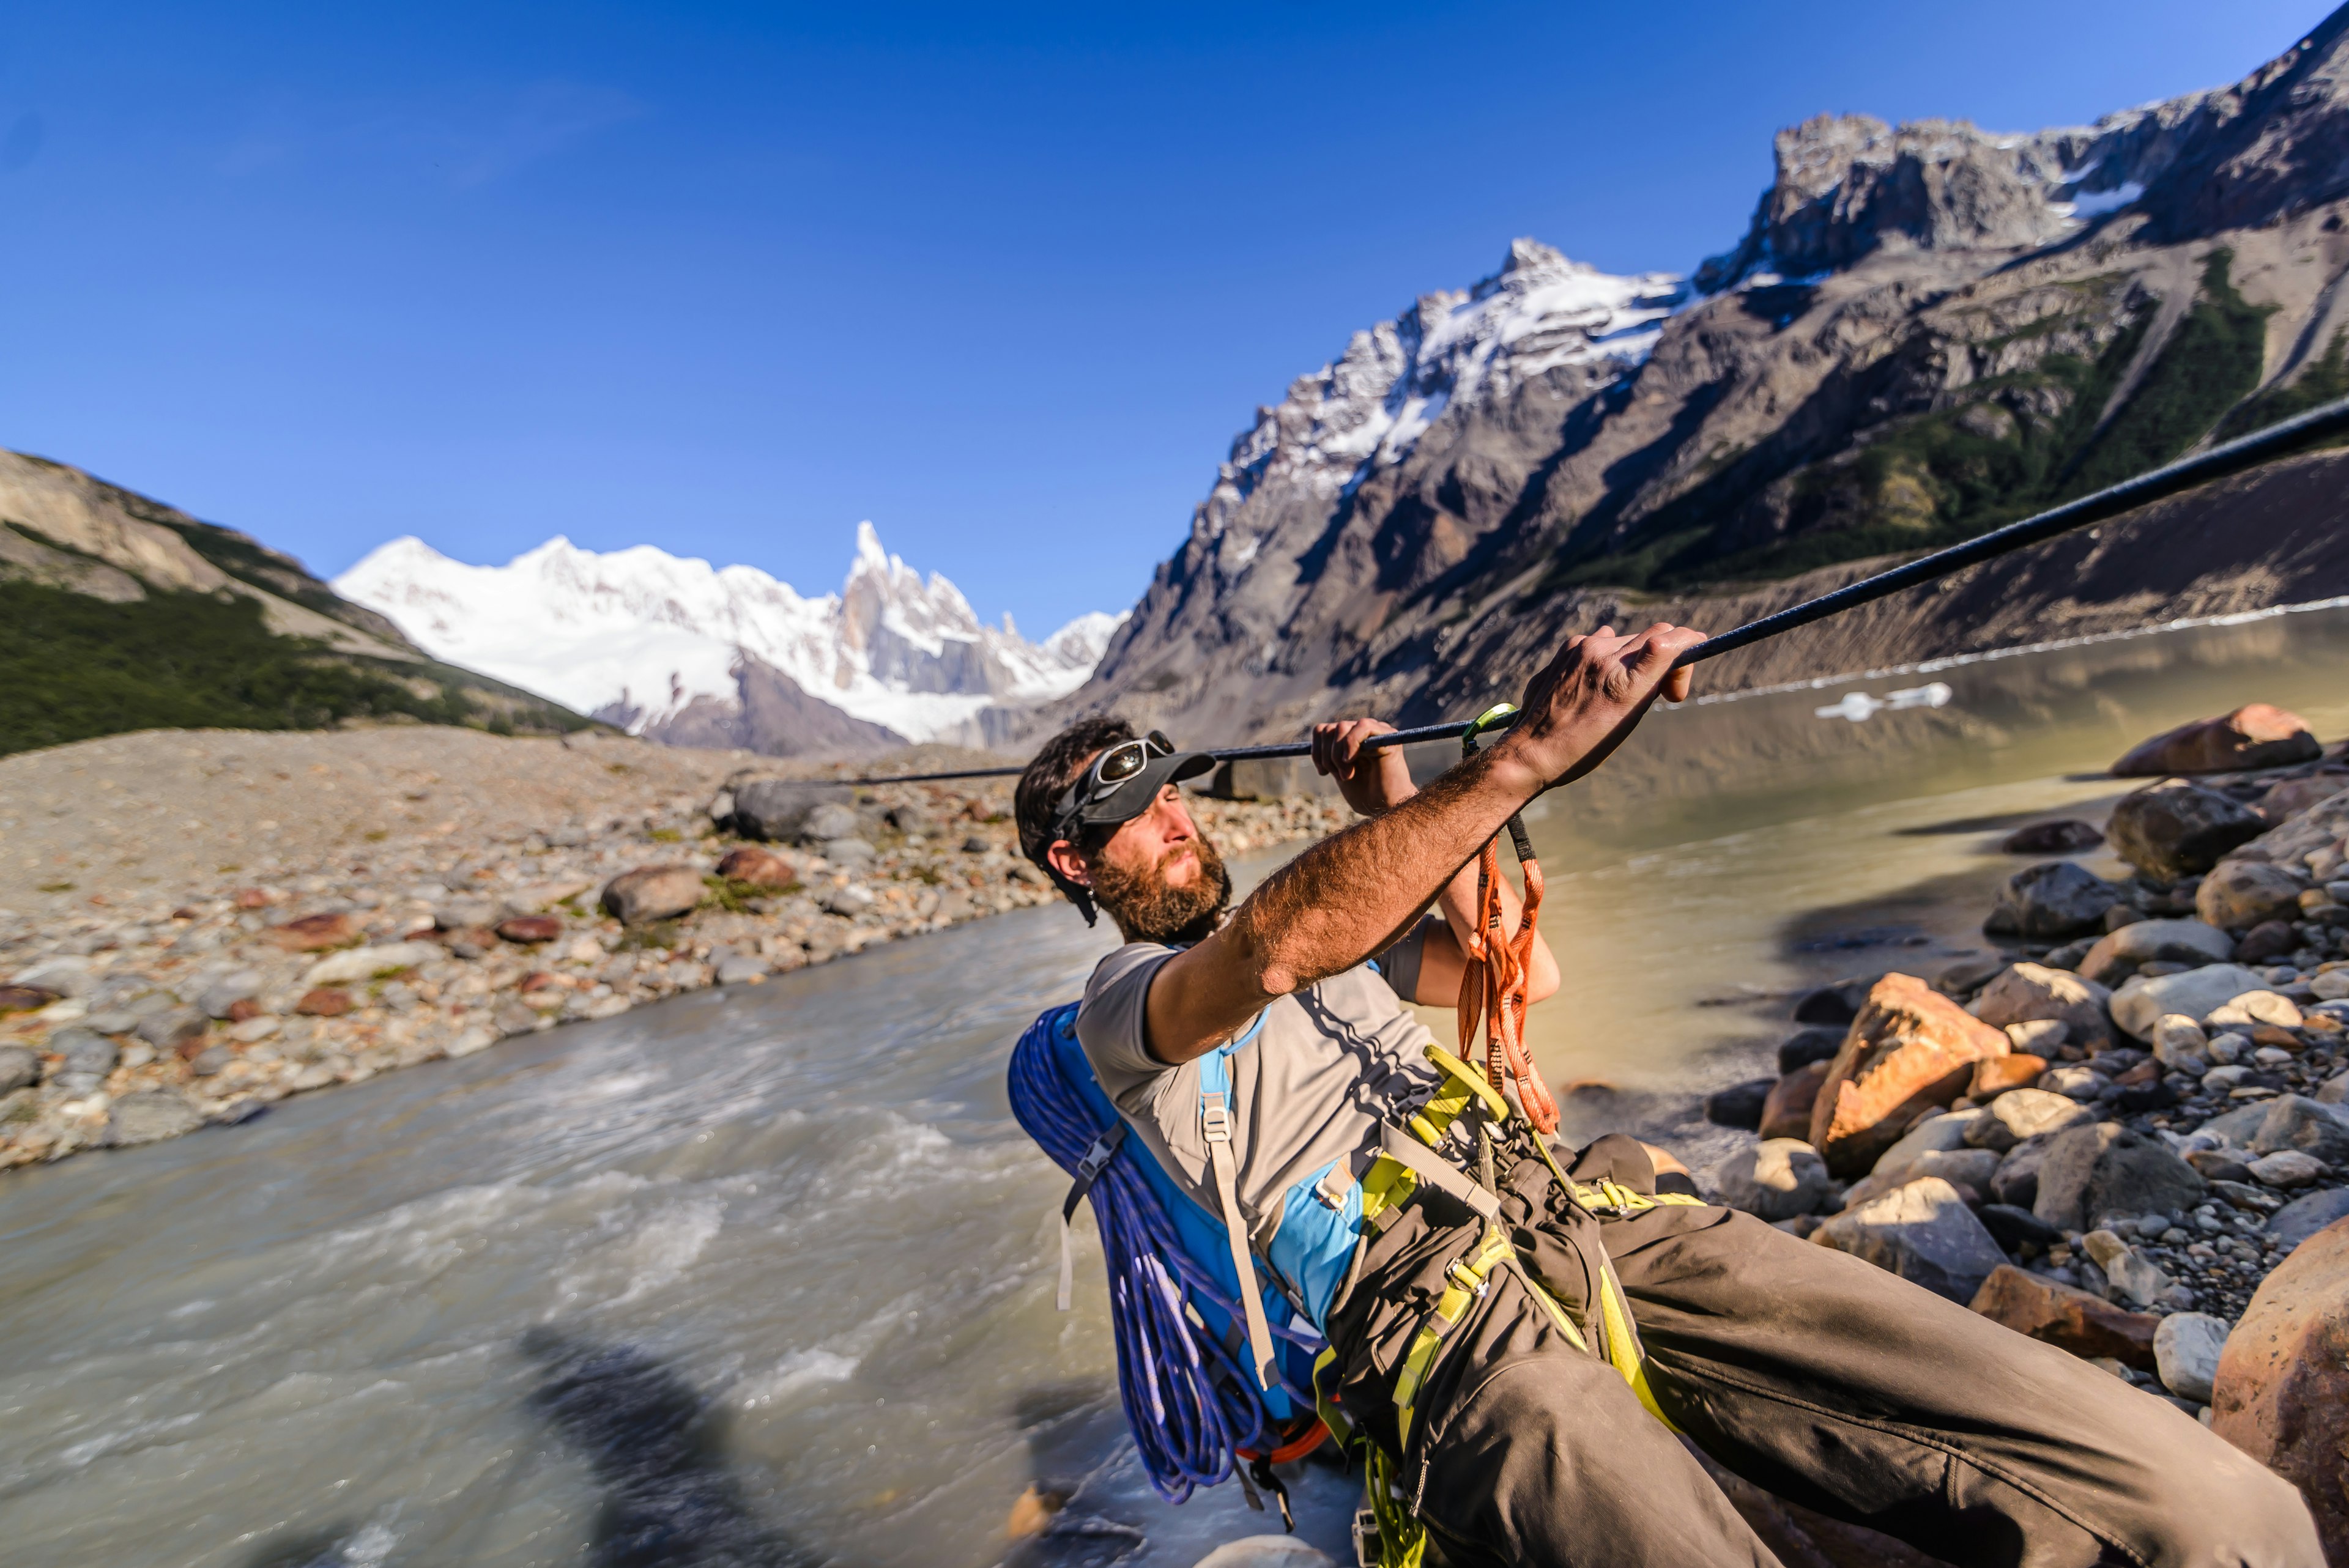
[{"label": "man's higher hand, at right, clenched over the black cable", "polygon": [[1656,697],[1684,702],[1689,669],[1672,669],[1703,631],[1656,622],[1616,636],[1600,627],[1569,636],[1557,657],[1525,688],[1522,716],[1494,742],[1494,765],[1522,768],[1529,793],[1571,784],[1623,744]]}]

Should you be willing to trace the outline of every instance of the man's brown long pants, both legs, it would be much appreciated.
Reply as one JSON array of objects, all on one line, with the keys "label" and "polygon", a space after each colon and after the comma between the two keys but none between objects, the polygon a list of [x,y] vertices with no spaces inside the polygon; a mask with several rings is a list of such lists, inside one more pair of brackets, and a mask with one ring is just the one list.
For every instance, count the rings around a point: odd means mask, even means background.
[{"label": "man's brown long pants, both legs", "polygon": [[[1621,1136],[1571,1176],[1656,1190]],[[1501,1218],[1576,1317],[1604,1246],[1658,1406],[1781,1498],[1968,1568],[2323,1568],[2300,1493],[2196,1420],[1870,1263],[1729,1209],[1597,1223],[1539,1160],[1503,1181]],[[1332,1312],[1339,1401],[1388,1453],[1395,1368],[1475,1235],[1440,1197],[1407,1207]],[[1402,1486],[1454,1563],[1776,1568],[1696,1455],[1513,1272],[1449,1338]]]}]

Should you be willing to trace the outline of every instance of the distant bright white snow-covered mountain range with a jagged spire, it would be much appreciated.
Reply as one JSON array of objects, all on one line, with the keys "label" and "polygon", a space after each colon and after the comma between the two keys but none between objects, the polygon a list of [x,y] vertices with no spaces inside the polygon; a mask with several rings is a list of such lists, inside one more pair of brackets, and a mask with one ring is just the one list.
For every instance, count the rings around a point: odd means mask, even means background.
[{"label": "distant bright white snow-covered mountain range with a jagged spire", "polygon": [[871,523],[857,523],[841,592],[817,599],[754,566],[564,538],[505,566],[402,538],[334,584],[442,657],[634,735],[768,756],[980,744],[1005,711],[1076,690],[1118,627],[1081,615],[1031,643],[1010,617],[982,624],[961,589],[888,554]]}]

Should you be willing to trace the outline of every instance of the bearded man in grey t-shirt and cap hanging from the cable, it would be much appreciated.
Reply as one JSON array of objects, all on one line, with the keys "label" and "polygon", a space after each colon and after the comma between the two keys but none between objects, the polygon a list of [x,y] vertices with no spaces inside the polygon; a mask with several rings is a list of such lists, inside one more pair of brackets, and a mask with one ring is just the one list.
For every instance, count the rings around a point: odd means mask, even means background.
[{"label": "bearded man in grey t-shirt and cap hanging from the cable", "polygon": [[[1475,1270],[1473,1300],[1416,1371],[1407,1347],[1431,1303],[1489,1249],[1487,1221],[1447,1199],[1461,1176],[1438,1171],[1452,1181],[1423,1181],[1337,1258],[1299,1249],[1327,1221],[1285,1214],[1292,1190],[1313,1183],[1360,1216],[1348,1188],[1440,1087],[1405,1000],[1459,998],[1470,859],[1534,796],[1597,768],[1658,695],[1687,697],[1670,667],[1698,641],[1670,624],[1567,638],[1517,725],[1423,791],[1400,751],[1362,749],[1386,725],[1320,725],[1315,768],[1365,822],[1229,915],[1231,878],[1177,791],[1212,758],[1104,718],[1055,737],[1019,779],[1019,840],[1125,937],[1076,1021],[1102,1089],[1330,1340],[1341,1408],[1400,1460],[1405,1507],[1454,1563],[1776,1563],[1684,1437],[1781,1498],[1950,1563],[2321,1568],[2288,1483],[2088,1361],[1748,1214],[1595,1211],[1574,1183],[1656,1192],[1626,1136],[1513,1160],[1496,1192],[1475,1190],[1515,1268]],[[1503,930],[1515,913],[1510,899]],[[1529,991],[1555,986],[1536,944]],[[1203,1061],[1226,1084],[1212,1117]],[[1595,1314],[1609,1265],[1651,1404],[1534,1291]]]}]

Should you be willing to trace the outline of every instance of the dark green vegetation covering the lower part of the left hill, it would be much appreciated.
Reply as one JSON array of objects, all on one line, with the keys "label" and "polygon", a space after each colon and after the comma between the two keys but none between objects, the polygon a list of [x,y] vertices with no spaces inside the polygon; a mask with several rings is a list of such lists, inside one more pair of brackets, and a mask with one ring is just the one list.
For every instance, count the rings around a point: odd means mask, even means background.
[{"label": "dark green vegetation covering the lower part of the left hill", "polygon": [[[150,592],[110,603],[0,580],[0,753],[155,728],[482,723],[479,707],[418,671],[277,636],[244,596]],[[538,707],[547,728],[578,723]]]}]

